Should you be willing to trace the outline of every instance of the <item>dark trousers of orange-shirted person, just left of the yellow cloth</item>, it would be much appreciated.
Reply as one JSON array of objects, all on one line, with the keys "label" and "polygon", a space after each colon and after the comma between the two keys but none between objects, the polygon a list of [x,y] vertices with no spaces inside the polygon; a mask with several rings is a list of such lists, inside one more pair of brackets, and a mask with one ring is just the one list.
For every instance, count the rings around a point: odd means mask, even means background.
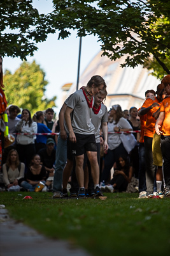
[{"label": "dark trousers of orange-shirted person, just left of the yellow cloth", "polygon": [[150,195],[153,193],[153,184],[154,184],[155,169],[156,169],[156,166],[153,165],[152,140],[153,138],[144,136],[147,195]]}]

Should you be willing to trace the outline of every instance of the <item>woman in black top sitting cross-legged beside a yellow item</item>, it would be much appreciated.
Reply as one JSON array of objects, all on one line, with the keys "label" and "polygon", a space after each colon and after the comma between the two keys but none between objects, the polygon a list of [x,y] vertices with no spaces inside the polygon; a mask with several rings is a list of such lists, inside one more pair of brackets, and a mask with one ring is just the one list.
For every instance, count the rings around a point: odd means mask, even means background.
[{"label": "woman in black top sitting cross-legged beside a yellow item", "polygon": [[25,180],[21,182],[22,188],[27,191],[39,192],[43,190],[43,188],[45,188],[43,191],[47,191],[45,186],[46,170],[45,166],[41,165],[40,162],[41,159],[38,154],[32,157],[31,165],[25,175]]}]

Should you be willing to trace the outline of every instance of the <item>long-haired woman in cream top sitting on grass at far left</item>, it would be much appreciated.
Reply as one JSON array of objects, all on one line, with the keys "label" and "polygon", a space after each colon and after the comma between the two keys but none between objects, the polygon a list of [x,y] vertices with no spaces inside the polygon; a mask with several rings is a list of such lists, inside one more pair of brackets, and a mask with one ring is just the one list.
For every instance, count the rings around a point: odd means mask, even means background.
[{"label": "long-haired woman in cream top sitting on grass at far left", "polygon": [[25,164],[20,163],[17,150],[11,149],[3,164],[3,182],[8,191],[20,191],[24,170]]}]

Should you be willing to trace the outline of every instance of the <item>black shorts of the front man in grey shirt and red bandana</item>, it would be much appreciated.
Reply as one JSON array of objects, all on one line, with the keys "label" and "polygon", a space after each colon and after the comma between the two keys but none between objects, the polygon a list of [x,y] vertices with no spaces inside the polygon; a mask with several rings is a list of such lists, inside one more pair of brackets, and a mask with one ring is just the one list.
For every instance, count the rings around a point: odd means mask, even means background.
[{"label": "black shorts of the front man in grey shirt and red bandana", "polygon": [[71,152],[73,156],[81,156],[85,152],[97,152],[96,140],[94,134],[79,134],[74,133],[76,136],[76,143],[71,142]]}]

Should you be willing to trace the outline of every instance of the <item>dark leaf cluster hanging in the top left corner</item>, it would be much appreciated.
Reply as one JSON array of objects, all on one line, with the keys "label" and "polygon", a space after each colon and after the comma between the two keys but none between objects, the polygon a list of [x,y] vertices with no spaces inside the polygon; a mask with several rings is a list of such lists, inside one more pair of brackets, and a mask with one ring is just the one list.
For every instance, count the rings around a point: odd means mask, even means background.
[{"label": "dark leaf cluster hanging in the top left corner", "polygon": [[39,15],[32,7],[32,0],[1,0],[0,44],[2,56],[33,56],[38,49],[35,43],[46,40],[50,28],[50,15]]}]

